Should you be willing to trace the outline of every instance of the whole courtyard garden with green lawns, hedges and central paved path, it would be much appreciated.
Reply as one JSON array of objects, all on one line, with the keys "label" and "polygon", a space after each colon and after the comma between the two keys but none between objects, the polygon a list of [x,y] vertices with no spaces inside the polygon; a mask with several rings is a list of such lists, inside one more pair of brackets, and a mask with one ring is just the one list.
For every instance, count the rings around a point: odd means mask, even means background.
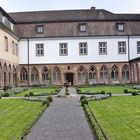
[{"label": "whole courtyard garden with green lawns, hedges and central paved path", "polygon": [[[1,91],[0,140],[140,139],[138,85],[78,86],[65,92],[58,86]],[[81,96],[88,103],[80,102]]]}]

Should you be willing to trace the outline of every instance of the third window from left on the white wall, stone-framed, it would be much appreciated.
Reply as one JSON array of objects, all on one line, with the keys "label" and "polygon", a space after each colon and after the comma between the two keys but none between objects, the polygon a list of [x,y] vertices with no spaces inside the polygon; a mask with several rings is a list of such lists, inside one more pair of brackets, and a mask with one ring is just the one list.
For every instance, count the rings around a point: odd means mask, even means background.
[{"label": "third window from left on the white wall, stone-framed", "polygon": [[79,54],[87,55],[87,53],[88,53],[87,43],[86,42],[79,43]]}]

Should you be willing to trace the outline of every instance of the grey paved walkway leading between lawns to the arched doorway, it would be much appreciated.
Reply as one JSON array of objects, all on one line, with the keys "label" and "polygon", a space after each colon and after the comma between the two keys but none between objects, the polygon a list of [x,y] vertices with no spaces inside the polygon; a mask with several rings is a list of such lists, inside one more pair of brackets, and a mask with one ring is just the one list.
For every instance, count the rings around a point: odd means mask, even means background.
[{"label": "grey paved walkway leading between lawns to the arched doorway", "polygon": [[[69,88],[70,94],[76,94],[75,88]],[[60,91],[64,94],[64,88]],[[80,106],[74,97],[54,99],[51,106],[33,126],[26,140],[93,140],[95,139]]]}]

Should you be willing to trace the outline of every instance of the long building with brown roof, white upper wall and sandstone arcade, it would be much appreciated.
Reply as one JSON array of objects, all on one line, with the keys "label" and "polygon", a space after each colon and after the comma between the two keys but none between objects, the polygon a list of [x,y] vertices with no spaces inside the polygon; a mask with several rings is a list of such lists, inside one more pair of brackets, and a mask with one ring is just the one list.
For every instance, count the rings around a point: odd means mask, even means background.
[{"label": "long building with brown roof, white upper wall and sandstone arcade", "polygon": [[10,16],[20,38],[19,85],[140,82],[139,14],[91,8]]}]

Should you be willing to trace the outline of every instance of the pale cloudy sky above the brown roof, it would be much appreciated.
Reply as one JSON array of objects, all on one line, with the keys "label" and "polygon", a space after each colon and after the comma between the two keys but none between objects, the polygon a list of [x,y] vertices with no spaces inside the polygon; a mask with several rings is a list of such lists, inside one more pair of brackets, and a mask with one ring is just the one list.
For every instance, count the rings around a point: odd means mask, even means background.
[{"label": "pale cloudy sky above the brown roof", "polygon": [[7,12],[59,9],[106,9],[114,13],[140,13],[140,0],[0,0]]}]

